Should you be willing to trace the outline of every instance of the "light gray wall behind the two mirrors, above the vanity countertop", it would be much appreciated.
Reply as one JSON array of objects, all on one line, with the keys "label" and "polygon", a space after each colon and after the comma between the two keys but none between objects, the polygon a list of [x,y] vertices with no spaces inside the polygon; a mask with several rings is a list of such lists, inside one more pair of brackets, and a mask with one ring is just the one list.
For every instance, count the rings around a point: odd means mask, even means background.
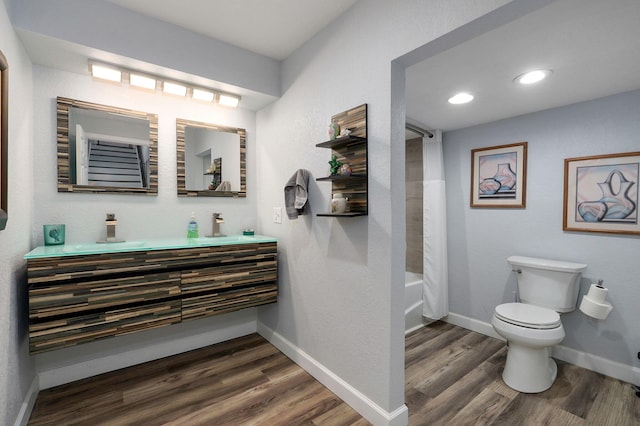
[{"label": "light gray wall behind the two mirrors, above the vanity countertop", "polygon": [[[60,71],[40,65],[33,67],[35,124],[34,176],[35,211],[33,245],[43,244],[42,225],[66,223],[67,243],[104,238],[104,215],[116,213],[117,234],[126,240],[171,238],[186,235],[191,212],[195,212],[202,234],[211,231],[213,211],[225,214],[223,231],[239,234],[256,222],[257,182],[255,172],[255,113],[229,109],[204,102],[191,102],[153,92],[133,90],[93,80],[89,75]],[[57,192],[55,141],[56,96],[112,105],[158,115],[158,194],[122,196],[69,194]],[[176,118],[247,129],[247,197],[177,197]],[[28,250],[27,250],[28,251]]]}]

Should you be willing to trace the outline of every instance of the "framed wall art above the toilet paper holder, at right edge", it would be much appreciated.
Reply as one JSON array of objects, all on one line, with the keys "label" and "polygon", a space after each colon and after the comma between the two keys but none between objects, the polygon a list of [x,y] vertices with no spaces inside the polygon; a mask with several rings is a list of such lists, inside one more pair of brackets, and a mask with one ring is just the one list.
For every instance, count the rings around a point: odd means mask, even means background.
[{"label": "framed wall art above the toilet paper holder, at right edge", "polygon": [[564,160],[565,231],[640,235],[640,152]]}]

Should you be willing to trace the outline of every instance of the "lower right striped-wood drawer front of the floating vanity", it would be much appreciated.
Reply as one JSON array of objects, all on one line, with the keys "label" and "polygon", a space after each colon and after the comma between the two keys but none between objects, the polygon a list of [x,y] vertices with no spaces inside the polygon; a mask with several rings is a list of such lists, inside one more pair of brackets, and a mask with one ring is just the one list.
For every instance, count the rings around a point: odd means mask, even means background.
[{"label": "lower right striped-wood drawer front of the floating vanity", "polygon": [[224,314],[278,301],[278,286],[265,284],[182,299],[182,320]]}]

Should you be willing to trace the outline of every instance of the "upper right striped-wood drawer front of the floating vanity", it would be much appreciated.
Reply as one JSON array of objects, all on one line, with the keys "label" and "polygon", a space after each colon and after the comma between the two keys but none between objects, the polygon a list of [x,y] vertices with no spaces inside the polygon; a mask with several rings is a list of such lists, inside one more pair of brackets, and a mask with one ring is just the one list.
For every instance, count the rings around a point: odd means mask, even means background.
[{"label": "upper right striped-wood drawer front of the floating vanity", "polygon": [[192,269],[182,272],[182,294],[231,290],[237,287],[275,283],[278,262],[275,258],[260,262]]}]

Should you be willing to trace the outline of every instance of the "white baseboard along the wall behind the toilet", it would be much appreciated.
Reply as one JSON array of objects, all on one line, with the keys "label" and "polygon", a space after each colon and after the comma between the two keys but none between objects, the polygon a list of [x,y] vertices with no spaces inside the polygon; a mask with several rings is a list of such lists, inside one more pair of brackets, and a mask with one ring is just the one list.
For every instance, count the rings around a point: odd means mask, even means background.
[{"label": "white baseboard along the wall behind the toilet", "polygon": [[[477,319],[450,313],[446,318],[443,319],[443,321],[460,326],[462,328],[466,328],[467,330],[484,334],[485,336],[504,340],[502,336],[498,335],[495,332],[491,324],[479,321]],[[619,362],[611,361],[609,359],[592,355],[587,352],[581,352],[575,349],[567,348],[566,346],[562,345],[553,347],[552,356],[556,359],[568,362],[569,364],[577,365],[578,367],[582,367],[587,370],[595,371],[596,373],[604,374],[605,376],[613,377],[614,379],[618,379],[623,382],[640,386],[640,368],[620,364]]]}]

